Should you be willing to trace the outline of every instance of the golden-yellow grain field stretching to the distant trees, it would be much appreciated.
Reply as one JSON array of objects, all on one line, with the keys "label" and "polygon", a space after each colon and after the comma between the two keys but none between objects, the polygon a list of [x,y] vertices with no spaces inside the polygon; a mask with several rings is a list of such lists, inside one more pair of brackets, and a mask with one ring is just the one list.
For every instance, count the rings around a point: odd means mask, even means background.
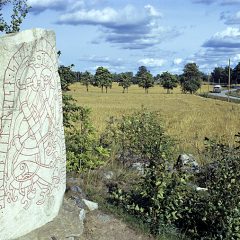
[{"label": "golden-yellow grain field stretching to the distant trees", "polygon": [[[99,132],[110,116],[120,117],[142,106],[160,113],[166,132],[178,140],[182,152],[198,153],[205,136],[232,144],[234,135],[240,131],[240,104],[181,94],[180,89],[166,94],[159,86],[151,88],[149,94],[138,86],[131,86],[129,93],[123,94],[117,84],[107,94],[94,87],[87,92],[79,83],[70,88],[79,105],[92,109],[92,120]],[[207,90],[208,86],[201,89]]]}]

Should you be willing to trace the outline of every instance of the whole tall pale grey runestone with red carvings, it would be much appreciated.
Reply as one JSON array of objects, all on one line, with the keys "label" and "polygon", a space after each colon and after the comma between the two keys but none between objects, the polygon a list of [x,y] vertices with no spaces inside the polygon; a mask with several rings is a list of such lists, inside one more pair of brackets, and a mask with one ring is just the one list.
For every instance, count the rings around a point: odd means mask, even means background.
[{"label": "whole tall pale grey runestone with red carvings", "polygon": [[0,37],[0,239],[51,221],[65,191],[65,143],[55,34]]}]

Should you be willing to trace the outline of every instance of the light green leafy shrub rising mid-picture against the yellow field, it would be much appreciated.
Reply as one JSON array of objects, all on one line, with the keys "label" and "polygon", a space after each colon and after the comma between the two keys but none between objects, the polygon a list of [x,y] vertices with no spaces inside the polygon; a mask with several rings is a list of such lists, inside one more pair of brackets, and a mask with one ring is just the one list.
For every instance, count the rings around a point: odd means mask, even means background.
[{"label": "light green leafy shrub rising mid-picture against the yellow field", "polygon": [[101,142],[116,154],[124,165],[140,161],[149,163],[155,159],[168,158],[173,141],[165,135],[156,113],[142,109],[121,119],[110,119]]}]

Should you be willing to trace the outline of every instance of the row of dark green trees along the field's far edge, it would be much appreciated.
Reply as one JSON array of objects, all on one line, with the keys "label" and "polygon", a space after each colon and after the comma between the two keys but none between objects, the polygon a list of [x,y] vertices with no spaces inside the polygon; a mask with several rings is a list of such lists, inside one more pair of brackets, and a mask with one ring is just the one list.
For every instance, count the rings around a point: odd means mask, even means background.
[{"label": "row of dark green trees along the field's far edge", "polygon": [[[211,82],[213,84],[228,84],[228,66],[216,67],[213,69],[210,75],[207,75],[199,70],[196,63],[187,63],[183,68],[182,74],[172,74],[168,71],[153,76],[153,74],[147,69],[146,66],[140,66],[137,73],[133,72],[123,73],[111,73],[107,68],[98,67],[95,74],[89,71],[74,72],[74,65],[59,67],[59,71],[66,72],[64,81],[62,82],[63,89],[67,90],[68,85],[74,82],[80,82],[86,86],[86,90],[89,91],[90,86],[99,87],[101,92],[108,92],[111,89],[112,83],[117,82],[122,87],[123,93],[128,92],[129,87],[132,84],[137,84],[148,93],[149,89],[155,85],[160,85],[170,93],[171,90],[178,85],[181,86],[183,93],[195,93],[203,82]],[[230,69],[231,83],[240,83],[240,62]]]}]

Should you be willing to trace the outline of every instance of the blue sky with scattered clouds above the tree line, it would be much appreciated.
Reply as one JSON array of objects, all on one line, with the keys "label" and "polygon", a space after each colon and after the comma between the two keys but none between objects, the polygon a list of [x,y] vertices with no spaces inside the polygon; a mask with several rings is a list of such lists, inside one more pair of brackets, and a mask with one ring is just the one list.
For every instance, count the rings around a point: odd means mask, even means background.
[{"label": "blue sky with scattered clouds above the tree line", "polygon": [[[240,0],[28,0],[21,30],[52,29],[60,63],[76,71],[210,73],[240,62]],[[3,9],[9,15],[10,6]]]}]

